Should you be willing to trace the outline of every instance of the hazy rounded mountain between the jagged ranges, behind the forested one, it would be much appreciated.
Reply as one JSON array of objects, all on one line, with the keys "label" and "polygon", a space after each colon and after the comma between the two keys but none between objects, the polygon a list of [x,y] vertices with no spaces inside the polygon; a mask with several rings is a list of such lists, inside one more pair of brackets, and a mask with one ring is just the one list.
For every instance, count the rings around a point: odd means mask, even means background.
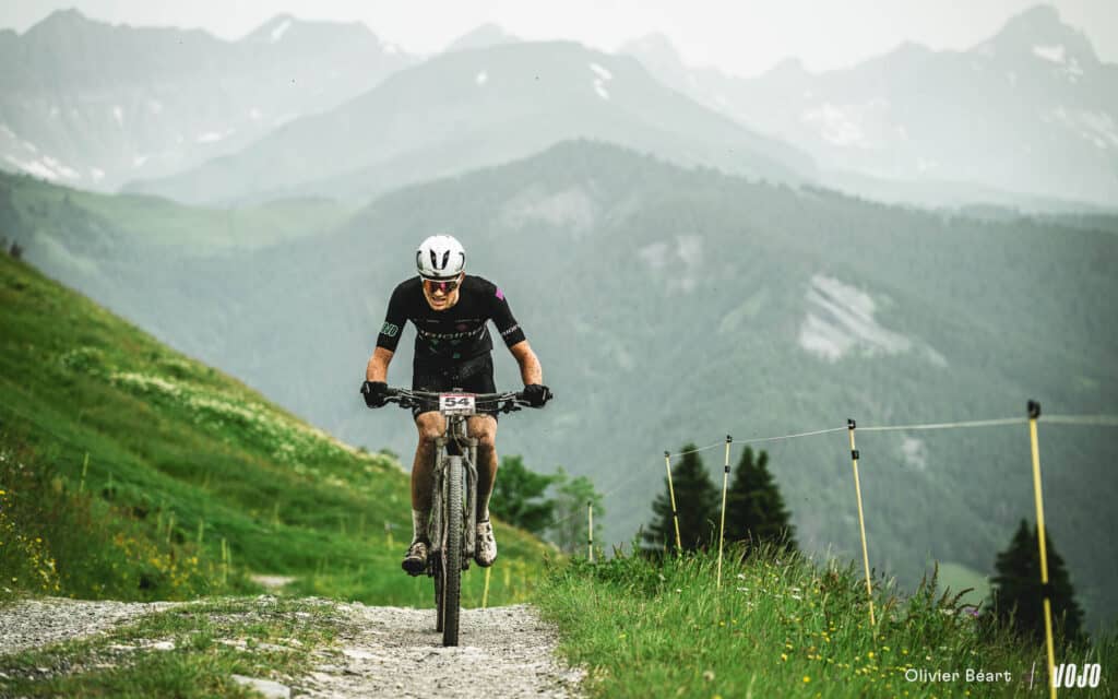
[{"label": "hazy rounded mountain between the jagged ranges, behind the forested one", "polygon": [[436,56],[235,155],[130,189],[186,202],[305,193],[367,201],[574,138],[755,178],[804,181],[815,170],[800,151],[665,88],[627,56],[550,41]]}]

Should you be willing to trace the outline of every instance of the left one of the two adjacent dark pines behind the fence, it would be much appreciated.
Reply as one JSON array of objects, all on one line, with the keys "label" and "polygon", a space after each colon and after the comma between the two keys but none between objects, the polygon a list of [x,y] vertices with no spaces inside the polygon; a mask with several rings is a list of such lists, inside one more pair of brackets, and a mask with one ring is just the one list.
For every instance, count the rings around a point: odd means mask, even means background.
[{"label": "left one of the two adjacent dark pines behind the fence", "polygon": [[[672,469],[675,488],[675,507],[680,519],[680,540],[683,550],[705,548],[718,536],[719,494],[710,474],[702,464],[694,444],[680,450],[683,460]],[[644,540],[653,547],[666,546],[675,551],[675,525],[672,521],[672,501],[664,476],[664,492],[652,503],[653,520],[644,532]]]}]

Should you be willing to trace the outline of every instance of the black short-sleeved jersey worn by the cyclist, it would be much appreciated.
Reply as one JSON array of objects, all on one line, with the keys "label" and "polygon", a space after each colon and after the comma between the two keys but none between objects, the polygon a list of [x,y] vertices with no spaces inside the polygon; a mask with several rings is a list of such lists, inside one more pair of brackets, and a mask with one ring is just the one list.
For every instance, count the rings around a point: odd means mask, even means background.
[{"label": "black short-sleeved jersey worn by the cyclist", "polygon": [[493,282],[467,274],[458,286],[458,302],[445,311],[435,311],[423,295],[423,282],[415,276],[392,292],[377,347],[395,352],[404,323],[411,321],[416,328],[415,360],[453,365],[493,349],[485,324],[490,320],[508,347],[524,339],[504,293]]}]

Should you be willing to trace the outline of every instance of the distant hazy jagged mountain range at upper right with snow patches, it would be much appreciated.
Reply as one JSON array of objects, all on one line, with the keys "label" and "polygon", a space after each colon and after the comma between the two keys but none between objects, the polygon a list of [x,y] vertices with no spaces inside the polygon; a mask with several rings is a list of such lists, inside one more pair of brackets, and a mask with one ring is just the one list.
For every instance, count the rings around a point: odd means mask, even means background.
[{"label": "distant hazy jagged mountain range at upper right with snow patches", "polygon": [[[795,59],[755,78],[692,69],[663,37],[623,50],[703,104],[806,149],[833,171],[828,181],[850,191],[954,205],[945,185],[973,182],[1021,196],[1118,201],[1118,66],[1101,63],[1051,7],[1012,18],[968,50],[907,42],[819,74]],[[972,201],[991,196],[1010,199],[979,192]]]}]

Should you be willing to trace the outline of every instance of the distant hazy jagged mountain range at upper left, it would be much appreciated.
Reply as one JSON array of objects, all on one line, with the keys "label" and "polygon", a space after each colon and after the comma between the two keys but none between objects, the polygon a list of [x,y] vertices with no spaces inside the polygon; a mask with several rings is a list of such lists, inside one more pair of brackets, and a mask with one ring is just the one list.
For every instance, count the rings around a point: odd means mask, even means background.
[{"label": "distant hazy jagged mountain range at upper left", "polygon": [[115,189],[235,152],[414,60],[360,23],[280,16],[226,41],[57,11],[0,35],[0,167]]}]

